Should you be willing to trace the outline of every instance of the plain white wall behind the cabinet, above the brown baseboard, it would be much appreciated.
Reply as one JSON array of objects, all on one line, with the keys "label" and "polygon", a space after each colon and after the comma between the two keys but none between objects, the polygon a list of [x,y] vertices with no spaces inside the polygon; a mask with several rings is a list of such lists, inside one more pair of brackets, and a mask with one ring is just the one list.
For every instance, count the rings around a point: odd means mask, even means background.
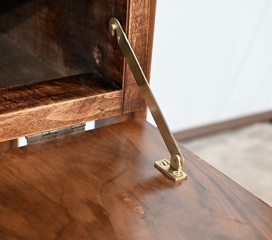
[{"label": "plain white wall behind the cabinet, above the brown baseboard", "polygon": [[272,110],[271,45],[272,0],[158,0],[150,82],[171,130]]}]

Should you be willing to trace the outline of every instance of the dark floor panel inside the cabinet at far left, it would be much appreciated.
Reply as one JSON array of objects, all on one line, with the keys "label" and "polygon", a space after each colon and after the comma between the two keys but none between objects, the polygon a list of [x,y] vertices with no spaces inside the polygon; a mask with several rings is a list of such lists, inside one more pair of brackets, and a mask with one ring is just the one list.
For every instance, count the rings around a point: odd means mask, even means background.
[{"label": "dark floor panel inside the cabinet at far left", "polygon": [[0,61],[0,88],[65,76],[3,33],[0,34]]}]

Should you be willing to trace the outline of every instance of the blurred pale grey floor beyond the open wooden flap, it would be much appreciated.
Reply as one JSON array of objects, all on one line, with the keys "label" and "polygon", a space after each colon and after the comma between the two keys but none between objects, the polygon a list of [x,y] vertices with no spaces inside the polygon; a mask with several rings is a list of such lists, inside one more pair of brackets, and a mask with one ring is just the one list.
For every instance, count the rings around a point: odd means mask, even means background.
[{"label": "blurred pale grey floor beyond the open wooden flap", "polygon": [[272,206],[270,122],[256,123],[181,144]]}]

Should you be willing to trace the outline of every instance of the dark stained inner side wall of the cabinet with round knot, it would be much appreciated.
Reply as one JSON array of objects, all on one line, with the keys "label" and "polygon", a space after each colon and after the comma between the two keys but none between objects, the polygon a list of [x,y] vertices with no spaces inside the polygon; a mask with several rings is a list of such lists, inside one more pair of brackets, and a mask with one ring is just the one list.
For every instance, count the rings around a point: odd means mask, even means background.
[{"label": "dark stained inner side wall of the cabinet with round knot", "polygon": [[[124,59],[108,21],[115,14],[126,26],[126,0],[4,0],[0,6],[1,31],[29,53],[65,76],[97,71],[121,86]],[[98,63],[96,46],[101,52]]]}]

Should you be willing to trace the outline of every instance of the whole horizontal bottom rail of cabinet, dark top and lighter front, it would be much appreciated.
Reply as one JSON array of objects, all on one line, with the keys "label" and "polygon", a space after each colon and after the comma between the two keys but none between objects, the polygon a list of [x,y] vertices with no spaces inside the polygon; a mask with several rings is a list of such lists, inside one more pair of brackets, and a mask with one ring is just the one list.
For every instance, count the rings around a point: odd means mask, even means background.
[{"label": "whole horizontal bottom rail of cabinet, dark top and lighter front", "polygon": [[0,89],[0,142],[118,115],[121,98],[94,73]]}]

